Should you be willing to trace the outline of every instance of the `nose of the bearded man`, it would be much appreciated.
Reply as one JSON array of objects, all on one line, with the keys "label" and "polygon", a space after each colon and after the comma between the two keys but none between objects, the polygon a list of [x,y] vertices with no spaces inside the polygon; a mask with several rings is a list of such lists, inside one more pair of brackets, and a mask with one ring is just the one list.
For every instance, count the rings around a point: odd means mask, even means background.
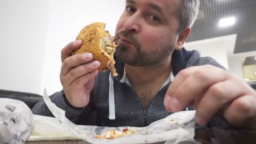
[{"label": "nose of the bearded man", "polygon": [[139,16],[134,13],[132,16],[128,17],[124,23],[124,28],[127,31],[138,33],[140,30]]}]

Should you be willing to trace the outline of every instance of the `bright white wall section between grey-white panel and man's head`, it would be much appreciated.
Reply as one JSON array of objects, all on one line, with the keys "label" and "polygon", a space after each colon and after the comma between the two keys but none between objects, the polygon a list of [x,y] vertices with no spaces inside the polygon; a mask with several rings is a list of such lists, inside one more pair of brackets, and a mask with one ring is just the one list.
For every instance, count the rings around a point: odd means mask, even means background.
[{"label": "bright white wall section between grey-white panel and man's head", "polygon": [[52,0],[49,8],[48,33],[43,70],[43,86],[48,94],[62,89],[59,73],[61,49],[75,40],[85,26],[105,22],[106,29],[114,35],[115,26],[125,8],[125,0]]}]

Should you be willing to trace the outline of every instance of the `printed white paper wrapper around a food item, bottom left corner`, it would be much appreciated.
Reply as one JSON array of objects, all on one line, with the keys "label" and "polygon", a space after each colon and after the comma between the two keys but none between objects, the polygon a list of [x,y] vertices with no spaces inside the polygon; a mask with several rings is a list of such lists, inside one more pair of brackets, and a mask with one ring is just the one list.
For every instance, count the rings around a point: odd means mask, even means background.
[{"label": "printed white paper wrapper around a food item, bottom left corner", "polygon": [[0,98],[0,144],[24,144],[34,123],[32,112],[24,102]]}]

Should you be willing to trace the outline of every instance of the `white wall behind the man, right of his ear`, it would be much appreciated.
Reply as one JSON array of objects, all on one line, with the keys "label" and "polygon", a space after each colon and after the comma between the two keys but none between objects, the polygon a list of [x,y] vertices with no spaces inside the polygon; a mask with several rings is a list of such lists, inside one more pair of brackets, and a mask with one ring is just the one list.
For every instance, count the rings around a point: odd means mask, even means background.
[{"label": "white wall behind the man, right of his ear", "polygon": [[234,54],[235,42],[236,34],[185,43],[184,46],[189,50],[200,51],[201,56],[210,56],[216,59],[229,72],[243,79],[243,61],[245,57],[256,56],[256,51]]}]

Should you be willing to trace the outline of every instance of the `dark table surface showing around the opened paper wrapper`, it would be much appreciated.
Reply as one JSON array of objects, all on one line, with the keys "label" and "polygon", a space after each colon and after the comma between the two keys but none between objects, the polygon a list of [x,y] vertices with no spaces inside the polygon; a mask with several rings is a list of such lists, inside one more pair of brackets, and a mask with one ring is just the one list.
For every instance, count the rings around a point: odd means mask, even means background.
[{"label": "dark table surface showing around the opened paper wrapper", "polygon": [[[195,140],[201,144],[256,144],[256,130],[210,128],[195,131]],[[90,144],[85,141],[30,141],[25,144]],[[163,144],[163,143],[155,143]]]}]

